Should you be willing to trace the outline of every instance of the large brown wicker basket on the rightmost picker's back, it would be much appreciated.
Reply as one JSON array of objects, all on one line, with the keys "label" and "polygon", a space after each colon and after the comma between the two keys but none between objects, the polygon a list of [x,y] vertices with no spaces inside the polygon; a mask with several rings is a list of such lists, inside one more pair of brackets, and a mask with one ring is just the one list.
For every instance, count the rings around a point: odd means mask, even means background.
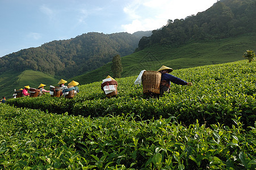
[{"label": "large brown wicker basket on the rightmost picker's back", "polygon": [[144,71],[142,86],[144,94],[160,94],[161,73],[158,71]]}]

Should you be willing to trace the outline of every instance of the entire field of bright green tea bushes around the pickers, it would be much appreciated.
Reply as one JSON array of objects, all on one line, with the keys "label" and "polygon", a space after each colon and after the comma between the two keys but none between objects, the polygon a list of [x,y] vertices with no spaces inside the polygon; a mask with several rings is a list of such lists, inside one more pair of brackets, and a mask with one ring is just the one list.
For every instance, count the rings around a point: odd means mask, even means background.
[{"label": "entire field of bright green tea bushes around the pickers", "polygon": [[[152,99],[116,79],[117,97],[95,82],[74,99],[0,104],[0,169],[255,169],[256,62],[174,70]],[[138,73],[139,74],[139,73]]]}]

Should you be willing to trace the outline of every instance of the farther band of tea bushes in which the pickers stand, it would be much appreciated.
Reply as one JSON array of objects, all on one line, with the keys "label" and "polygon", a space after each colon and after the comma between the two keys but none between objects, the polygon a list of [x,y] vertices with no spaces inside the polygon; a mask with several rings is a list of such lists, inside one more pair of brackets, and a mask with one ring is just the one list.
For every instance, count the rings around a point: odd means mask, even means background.
[{"label": "farther band of tea bushes in which the pickers stand", "polygon": [[[12,99],[7,103],[18,107],[42,109],[53,113],[82,116],[106,116],[135,113],[143,120],[177,117],[179,122],[231,125],[232,118],[240,117],[245,127],[256,121],[256,63],[238,61],[219,65],[174,70],[193,86],[171,84],[169,94],[151,99],[142,94],[142,86],[134,85],[136,76],[117,79],[117,97],[107,98],[95,82],[79,86],[79,94],[72,100],[42,96]],[[138,73],[139,74],[139,73]]]}]

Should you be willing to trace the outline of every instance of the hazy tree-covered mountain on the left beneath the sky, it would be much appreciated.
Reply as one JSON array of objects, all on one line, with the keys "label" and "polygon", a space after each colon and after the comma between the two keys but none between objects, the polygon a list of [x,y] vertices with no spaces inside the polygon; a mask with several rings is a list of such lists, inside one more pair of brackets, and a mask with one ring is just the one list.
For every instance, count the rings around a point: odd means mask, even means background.
[{"label": "hazy tree-covered mountain on the left beneath the sky", "polygon": [[151,31],[134,35],[89,32],[74,39],[48,42],[1,57],[0,72],[31,69],[70,78],[104,65],[116,54],[126,56],[133,53],[141,37],[150,34]]}]

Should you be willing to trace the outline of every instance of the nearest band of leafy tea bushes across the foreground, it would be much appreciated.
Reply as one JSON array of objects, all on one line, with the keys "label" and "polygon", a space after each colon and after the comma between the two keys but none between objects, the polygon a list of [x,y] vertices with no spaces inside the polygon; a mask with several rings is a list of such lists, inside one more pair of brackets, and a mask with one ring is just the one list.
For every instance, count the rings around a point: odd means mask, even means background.
[{"label": "nearest band of leafy tea bushes across the foreground", "polygon": [[0,169],[255,169],[256,124],[82,117],[0,105]]}]

